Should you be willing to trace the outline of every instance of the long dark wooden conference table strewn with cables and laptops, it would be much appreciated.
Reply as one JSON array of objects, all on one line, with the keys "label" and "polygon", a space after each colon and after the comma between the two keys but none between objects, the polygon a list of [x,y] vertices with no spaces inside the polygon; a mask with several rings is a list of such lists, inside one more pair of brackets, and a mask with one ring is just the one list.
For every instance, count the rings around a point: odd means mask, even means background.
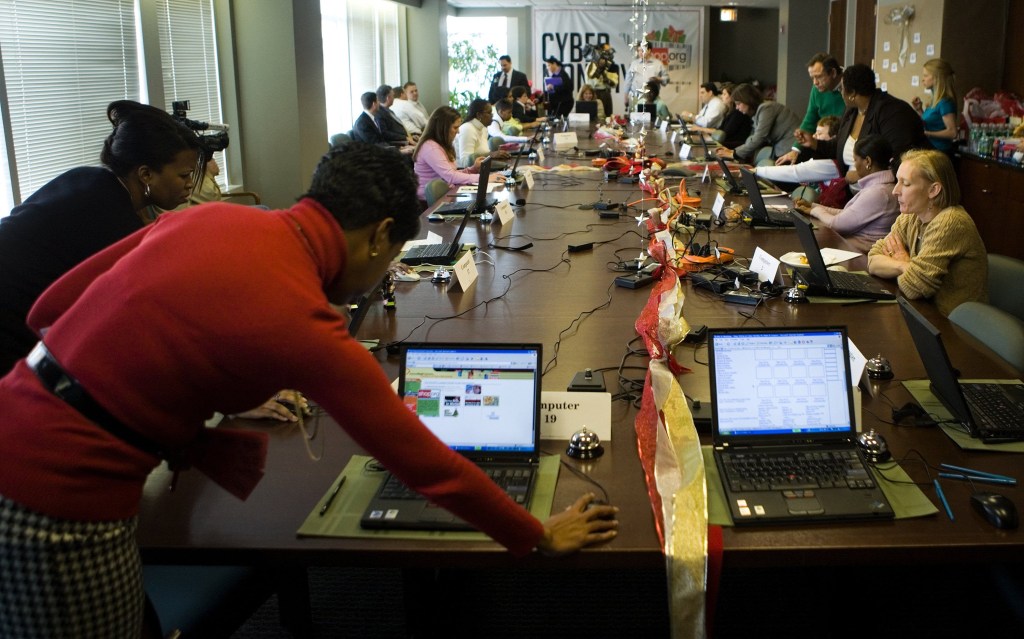
[{"label": "long dark wooden conference table strewn with cables and laptops", "polygon": [[[581,137],[586,137],[582,135]],[[586,142],[589,140],[581,140]],[[649,146],[671,153],[665,135],[651,134]],[[582,145],[582,144],[581,144]],[[570,154],[570,155],[575,155]],[[566,158],[551,152],[546,164],[590,164],[590,158]],[[678,179],[678,178],[676,178]],[[710,206],[714,183],[690,179],[691,193],[700,191]],[[620,392],[616,370],[641,381],[647,359],[636,351],[634,323],[647,301],[649,288],[627,289],[612,282],[620,272],[615,264],[635,259],[647,238],[638,225],[637,209],[618,218],[600,218],[580,205],[598,199],[633,202],[641,199],[634,184],[606,182],[599,171],[559,171],[537,176],[532,188],[518,187],[511,200],[525,204],[516,208],[515,219],[502,226],[497,221],[473,220],[462,240],[479,248],[478,279],[468,291],[451,291],[429,280],[398,283],[396,307],[385,310],[376,303],[362,327],[360,338],[382,343],[408,341],[541,342],[548,372],[545,390],[565,390],[573,375],[585,369],[603,373],[608,390]],[[726,196],[726,200],[734,199]],[[745,199],[739,198],[745,202]],[[451,238],[456,223],[424,222],[427,229]],[[842,238],[827,229],[816,230],[822,246],[843,248]],[[749,258],[761,247],[776,257],[800,250],[792,230],[753,230],[742,224],[716,227],[711,239]],[[701,243],[708,237],[701,233]],[[490,245],[519,246],[510,252]],[[567,253],[568,245],[593,242],[591,250]],[[865,258],[848,263],[851,270],[864,269]],[[899,459],[910,450],[920,452],[933,465],[946,462],[990,472],[1020,474],[1020,457],[991,452],[965,452],[937,428],[910,428],[891,424],[893,406],[902,406],[909,394],[901,380],[921,379],[925,372],[896,304],[843,305],[791,304],[781,297],[757,308],[727,304],[717,296],[693,290],[688,281],[684,316],[691,326],[738,327],[845,325],[849,335],[868,357],[888,357],[895,379],[877,382],[877,395],[863,395],[863,427],[874,428]],[[894,289],[894,283],[890,283]],[[916,302],[943,333],[950,358],[965,378],[1015,378],[1020,374],[962,333],[939,315],[928,302]],[[424,320],[426,317],[426,320]],[[386,350],[377,353],[381,366],[396,375],[396,359]],[[683,344],[676,356],[691,373],[679,377],[687,396],[710,400],[707,350],[702,344]],[[345,392],[339,388],[338,392]],[[634,390],[634,396],[638,394]],[[665,557],[654,528],[651,505],[637,455],[634,418],[636,410],[627,400],[612,403],[613,436],[605,442],[600,459],[580,463],[564,456],[564,441],[547,441],[545,451],[562,455],[603,484],[612,503],[621,509],[618,537],[611,543],[587,549],[558,561],[559,569],[623,568],[656,569]],[[323,459],[308,459],[301,435],[290,428],[250,423],[246,427],[271,432],[266,476],[246,502],[240,502],[198,472],[186,472],[176,489],[168,492],[170,475],[158,470],[148,481],[139,518],[138,541],[143,558],[155,563],[257,564],[284,568],[309,565],[434,567],[550,566],[550,560],[535,556],[512,558],[492,542],[437,542],[375,539],[300,539],[296,530],[323,497],[353,454],[360,453],[341,428],[325,418],[311,444]],[[382,425],[384,427],[386,425]],[[904,465],[911,477],[927,476],[913,464]],[[1024,561],[1024,532],[999,530],[975,513],[966,483],[946,482],[950,520],[936,516],[887,522],[829,523],[814,525],[760,526],[724,529],[724,569],[771,566],[823,566],[849,564],[934,564]],[[998,486],[1024,507],[1020,487]],[[579,495],[593,489],[569,472],[561,472],[553,510],[565,508]],[[934,494],[925,488],[934,499]]]}]

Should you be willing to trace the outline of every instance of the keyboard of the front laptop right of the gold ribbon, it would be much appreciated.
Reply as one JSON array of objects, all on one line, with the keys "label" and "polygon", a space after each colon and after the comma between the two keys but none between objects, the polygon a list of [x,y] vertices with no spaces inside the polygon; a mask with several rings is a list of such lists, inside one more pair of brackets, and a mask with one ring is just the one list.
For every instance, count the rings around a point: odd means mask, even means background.
[{"label": "keyboard of the front laptop right of the gold ribbon", "polygon": [[722,462],[733,492],[874,487],[854,451],[732,453]]}]

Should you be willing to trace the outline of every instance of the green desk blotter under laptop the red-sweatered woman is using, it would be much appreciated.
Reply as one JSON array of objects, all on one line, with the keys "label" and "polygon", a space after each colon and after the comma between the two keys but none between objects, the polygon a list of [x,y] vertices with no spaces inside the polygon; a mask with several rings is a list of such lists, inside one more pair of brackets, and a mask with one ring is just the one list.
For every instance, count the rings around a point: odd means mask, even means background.
[{"label": "green desk blotter under laptop the red-sweatered woman is using", "polygon": [[[328,487],[299,527],[299,537],[352,537],[362,539],[412,539],[437,541],[487,541],[483,532],[453,531],[453,530],[365,530],[359,527],[359,518],[367,509],[384,480],[384,472],[367,470],[372,458],[366,455],[353,455],[341,474]],[[345,485],[331,503],[331,507],[322,517],[319,514],[331,489],[345,477]],[[535,479],[534,499],[529,512],[541,519],[547,519],[551,514],[551,503],[555,498],[555,484],[558,482],[558,457],[545,455],[541,458],[540,470]]]}]

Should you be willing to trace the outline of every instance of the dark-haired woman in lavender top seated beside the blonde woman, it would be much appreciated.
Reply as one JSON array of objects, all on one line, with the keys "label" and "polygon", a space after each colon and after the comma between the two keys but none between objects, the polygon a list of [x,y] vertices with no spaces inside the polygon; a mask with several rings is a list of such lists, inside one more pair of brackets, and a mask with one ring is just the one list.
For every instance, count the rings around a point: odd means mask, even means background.
[{"label": "dark-haired woman in lavender top seated beside the blonde woman", "polygon": [[842,209],[800,199],[794,207],[846,238],[858,251],[867,251],[889,233],[899,215],[892,194],[896,180],[889,170],[892,157],[892,145],[881,135],[861,137],[853,147],[853,166],[860,175],[857,195]]}]

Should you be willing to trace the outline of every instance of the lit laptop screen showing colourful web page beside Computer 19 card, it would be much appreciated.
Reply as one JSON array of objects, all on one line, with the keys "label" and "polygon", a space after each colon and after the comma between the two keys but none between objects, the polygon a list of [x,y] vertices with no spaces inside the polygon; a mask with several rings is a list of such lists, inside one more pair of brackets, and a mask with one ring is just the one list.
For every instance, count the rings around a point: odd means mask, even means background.
[{"label": "lit laptop screen showing colourful web page beside Computer 19 card", "polygon": [[540,345],[412,345],[399,380],[402,401],[451,449],[537,452]]}]

